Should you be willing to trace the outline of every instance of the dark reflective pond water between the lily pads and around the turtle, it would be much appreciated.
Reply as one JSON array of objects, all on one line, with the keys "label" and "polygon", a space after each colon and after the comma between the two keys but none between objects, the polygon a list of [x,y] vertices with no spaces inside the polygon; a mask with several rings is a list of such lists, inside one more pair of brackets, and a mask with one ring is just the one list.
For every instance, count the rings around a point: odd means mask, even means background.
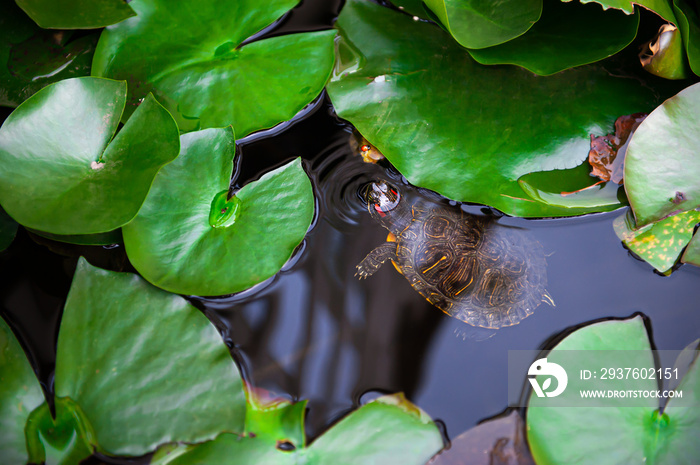
[{"label": "dark reflective pond water between the lily pads and around the turtle", "polygon": [[[339,5],[306,0],[268,33],[330,23]],[[700,335],[700,269],[684,266],[662,277],[631,257],[612,229],[621,212],[498,218],[542,244],[556,307],[542,305],[485,340],[430,305],[392,266],[358,280],[355,266],[386,238],[358,190],[377,177],[401,180],[388,166],[363,163],[350,137],[351,127],[335,117],[324,95],[294,122],[240,142],[233,185],[302,156],[317,195],[316,220],[293,260],[268,282],[231,297],[191,298],[221,329],[249,381],[309,399],[310,437],[359,404],[396,391],[454,437],[507,407],[508,350],[546,347],[563,331],[592,320],[641,312],[658,349],[682,349]],[[80,254],[98,266],[132,271],[121,247],[61,245],[22,230],[0,254],[0,314],[47,392],[58,322]]]}]

